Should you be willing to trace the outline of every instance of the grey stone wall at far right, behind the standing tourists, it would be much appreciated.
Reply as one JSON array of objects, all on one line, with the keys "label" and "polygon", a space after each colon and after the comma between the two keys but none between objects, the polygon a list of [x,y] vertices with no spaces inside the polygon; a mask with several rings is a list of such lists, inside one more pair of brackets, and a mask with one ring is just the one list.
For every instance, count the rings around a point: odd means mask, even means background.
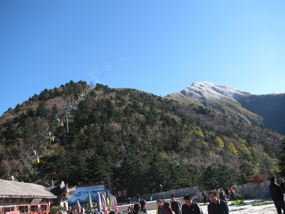
[{"label": "grey stone wall at far right, behind the standing tourists", "polygon": [[[284,178],[283,178],[284,179]],[[280,184],[280,179],[277,179],[277,184]],[[285,179],[284,179],[285,180]],[[270,192],[268,186],[271,184],[270,180],[264,181],[260,184],[262,196],[270,197]],[[253,198],[253,197],[261,197],[260,192],[254,189],[255,184],[243,184],[238,186],[239,194],[243,198]]]}]

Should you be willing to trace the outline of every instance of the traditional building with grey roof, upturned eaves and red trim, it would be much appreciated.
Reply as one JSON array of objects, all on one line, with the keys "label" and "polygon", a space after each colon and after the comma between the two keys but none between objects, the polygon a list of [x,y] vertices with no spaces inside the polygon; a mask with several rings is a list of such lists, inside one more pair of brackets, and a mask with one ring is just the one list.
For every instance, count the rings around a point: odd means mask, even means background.
[{"label": "traditional building with grey roof, upturned eaves and red trim", "polygon": [[0,179],[0,214],[48,213],[53,205],[67,207],[74,193],[75,187],[68,188],[63,181],[53,187],[45,182],[30,184]]}]

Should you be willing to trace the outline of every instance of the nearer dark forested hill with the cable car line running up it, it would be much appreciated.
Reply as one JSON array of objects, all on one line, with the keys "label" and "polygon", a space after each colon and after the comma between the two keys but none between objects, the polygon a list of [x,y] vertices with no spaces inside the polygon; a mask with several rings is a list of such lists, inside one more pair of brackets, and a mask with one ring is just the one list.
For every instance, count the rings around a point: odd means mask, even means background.
[{"label": "nearer dark forested hill with the cable car line running up it", "polygon": [[[61,106],[73,104],[85,85],[70,81],[45,89],[1,116],[0,176],[14,166],[10,175],[19,181],[76,185],[106,181],[110,174],[118,190],[147,194],[159,183],[165,190],[209,189],[278,172],[278,133],[136,89],[96,84],[70,111],[67,133],[54,118],[65,124]],[[54,141],[45,135],[47,127],[56,133]],[[27,152],[32,145],[39,164]]]}]

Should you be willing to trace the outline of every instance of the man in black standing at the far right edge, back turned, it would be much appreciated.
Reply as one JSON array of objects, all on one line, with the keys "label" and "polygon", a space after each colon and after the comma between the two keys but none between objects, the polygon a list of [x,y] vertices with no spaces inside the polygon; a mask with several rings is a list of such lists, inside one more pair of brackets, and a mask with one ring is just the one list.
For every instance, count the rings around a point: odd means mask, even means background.
[{"label": "man in black standing at the far right edge, back turned", "polygon": [[277,213],[281,214],[283,209],[283,213],[285,212],[285,201],[284,201],[284,192],[281,187],[275,183],[275,177],[272,176],[270,178],[271,184],[269,185],[270,194],[274,205],[277,209]]}]

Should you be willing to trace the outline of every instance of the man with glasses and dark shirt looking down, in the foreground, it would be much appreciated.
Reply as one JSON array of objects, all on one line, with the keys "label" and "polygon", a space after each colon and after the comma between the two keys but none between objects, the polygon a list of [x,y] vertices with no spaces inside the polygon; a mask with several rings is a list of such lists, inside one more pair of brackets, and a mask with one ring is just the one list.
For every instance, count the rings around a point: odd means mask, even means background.
[{"label": "man with glasses and dark shirt looking down, in the foreground", "polygon": [[211,203],[208,205],[208,214],[229,214],[228,204],[218,198],[215,190],[209,192],[209,197]]}]

